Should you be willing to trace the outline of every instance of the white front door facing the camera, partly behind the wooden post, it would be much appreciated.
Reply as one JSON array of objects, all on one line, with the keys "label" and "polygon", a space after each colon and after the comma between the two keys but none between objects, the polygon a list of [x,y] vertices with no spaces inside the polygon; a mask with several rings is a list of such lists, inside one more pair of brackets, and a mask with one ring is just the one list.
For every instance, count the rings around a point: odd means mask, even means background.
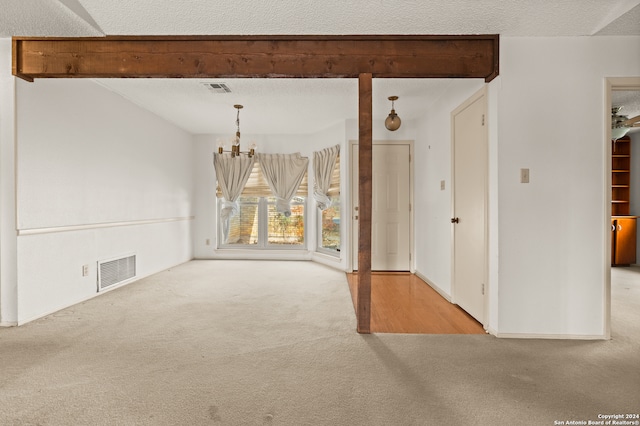
[{"label": "white front door facing the camera, partly behind the wooden post", "polygon": [[[408,271],[411,266],[409,145],[373,144],[371,269]],[[352,153],[353,269],[358,267],[358,145]]]}]

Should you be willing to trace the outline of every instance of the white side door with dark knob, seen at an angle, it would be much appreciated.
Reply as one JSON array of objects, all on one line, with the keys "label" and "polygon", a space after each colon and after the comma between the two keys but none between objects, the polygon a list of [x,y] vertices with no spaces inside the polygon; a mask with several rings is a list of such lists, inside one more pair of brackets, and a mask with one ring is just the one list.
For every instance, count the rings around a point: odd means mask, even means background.
[{"label": "white side door with dark knob, seen at an angle", "polygon": [[[479,92],[453,117],[453,302],[480,322],[486,284],[486,100]],[[457,222],[457,223],[456,223]]]}]

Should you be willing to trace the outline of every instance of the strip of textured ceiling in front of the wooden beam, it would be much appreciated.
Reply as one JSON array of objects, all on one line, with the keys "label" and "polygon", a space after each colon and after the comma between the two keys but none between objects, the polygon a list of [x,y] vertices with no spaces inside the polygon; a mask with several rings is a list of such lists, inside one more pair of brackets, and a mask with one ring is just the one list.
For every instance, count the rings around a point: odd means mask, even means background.
[{"label": "strip of textured ceiling in front of the wooden beam", "polygon": [[[640,0],[2,0],[0,36],[640,35]],[[626,13],[630,15],[623,16]],[[613,23],[610,27],[609,24]]]}]

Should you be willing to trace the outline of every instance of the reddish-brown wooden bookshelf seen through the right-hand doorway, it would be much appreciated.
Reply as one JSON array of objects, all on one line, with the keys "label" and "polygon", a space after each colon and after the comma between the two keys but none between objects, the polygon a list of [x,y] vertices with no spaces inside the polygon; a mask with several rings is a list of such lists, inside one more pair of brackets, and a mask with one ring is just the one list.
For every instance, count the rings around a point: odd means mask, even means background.
[{"label": "reddish-brown wooden bookshelf seen through the right-hand doorway", "polygon": [[611,216],[628,216],[631,183],[631,138],[611,142]]}]

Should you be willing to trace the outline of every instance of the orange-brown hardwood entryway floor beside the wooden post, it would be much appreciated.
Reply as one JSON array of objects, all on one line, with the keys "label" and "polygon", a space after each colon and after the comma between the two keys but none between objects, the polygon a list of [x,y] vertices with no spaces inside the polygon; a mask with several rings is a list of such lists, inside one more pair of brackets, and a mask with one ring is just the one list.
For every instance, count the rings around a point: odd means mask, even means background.
[{"label": "orange-brown hardwood entryway floor beside the wooden post", "polygon": [[[354,308],[357,280],[357,274],[347,274]],[[463,309],[449,303],[427,283],[408,272],[371,274],[371,332],[485,333],[482,325]]]}]

